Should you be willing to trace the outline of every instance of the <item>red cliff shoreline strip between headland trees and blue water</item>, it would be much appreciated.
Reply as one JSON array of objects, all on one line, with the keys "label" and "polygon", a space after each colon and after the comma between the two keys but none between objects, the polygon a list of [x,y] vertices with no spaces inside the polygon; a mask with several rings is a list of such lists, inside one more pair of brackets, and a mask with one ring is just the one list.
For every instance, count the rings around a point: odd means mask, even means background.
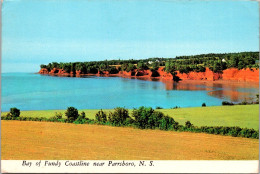
[{"label": "red cliff shoreline strip between headland trees and blue water", "polygon": [[[160,67],[157,70],[131,70],[127,71],[118,71],[117,73],[109,73],[108,71],[98,71],[96,74],[83,74],[81,71],[75,72],[66,72],[63,69],[53,68],[51,71],[48,71],[46,68],[40,69],[38,72],[43,75],[51,75],[51,76],[67,76],[67,77],[84,77],[84,76],[101,76],[101,77],[123,77],[123,78],[143,78],[145,80],[165,80],[171,82],[179,82],[179,81],[222,81],[224,83],[227,82],[252,82],[259,83],[259,69],[256,68],[246,68],[246,69],[237,69],[237,68],[229,68],[223,70],[223,72],[213,72],[209,68],[206,68],[204,72],[195,72],[191,71],[188,73],[180,73],[179,71],[175,71],[175,75],[168,73],[164,70],[164,67]],[[227,82],[225,82],[227,81]]]}]

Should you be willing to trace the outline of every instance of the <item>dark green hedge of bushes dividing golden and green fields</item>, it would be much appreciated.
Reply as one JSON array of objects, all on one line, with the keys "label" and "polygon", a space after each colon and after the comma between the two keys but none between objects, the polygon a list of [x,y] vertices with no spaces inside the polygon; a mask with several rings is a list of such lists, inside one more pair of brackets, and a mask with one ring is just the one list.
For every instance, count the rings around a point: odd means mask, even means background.
[{"label": "dark green hedge of bushes dividing golden and green fields", "polygon": [[117,107],[113,112],[106,113],[100,110],[96,113],[95,119],[86,117],[85,112],[79,114],[74,107],[68,107],[65,112],[65,118],[61,113],[55,113],[55,116],[46,117],[21,117],[20,110],[11,108],[6,116],[1,116],[2,120],[20,120],[20,121],[45,121],[45,122],[63,122],[75,124],[100,124],[110,126],[128,126],[139,129],[159,129],[166,131],[188,131],[188,132],[204,132],[208,134],[227,135],[233,137],[246,137],[259,139],[259,131],[248,128],[225,127],[225,126],[194,126],[190,121],[186,121],[185,125],[180,125],[174,118],[164,115],[160,111],[156,111],[151,107],[134,108],[132,117],[129,115],[128,109]]}]

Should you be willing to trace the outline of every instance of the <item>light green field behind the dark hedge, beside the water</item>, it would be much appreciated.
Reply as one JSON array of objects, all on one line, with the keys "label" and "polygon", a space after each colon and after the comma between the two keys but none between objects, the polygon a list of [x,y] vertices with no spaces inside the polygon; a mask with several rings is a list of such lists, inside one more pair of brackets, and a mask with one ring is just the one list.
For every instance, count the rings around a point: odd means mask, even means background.
[{"label": "light green field behind the dark hedge, beside the water", "polygon": [[[97,109],[84,109],[88,118],[95,118]],[[103,109],[105,112],[113,109]],[[184,125],[189,120],[195,126],[239,126],[241,128],[259,129],[259,105],[211,106],[178,109],[159,109]],[[21,111],[21,116],[52,117],[55,112],[65,110]],[[129,110],[132,113],[131,109]],[[5,115],[7,112],[2,112]]]}]

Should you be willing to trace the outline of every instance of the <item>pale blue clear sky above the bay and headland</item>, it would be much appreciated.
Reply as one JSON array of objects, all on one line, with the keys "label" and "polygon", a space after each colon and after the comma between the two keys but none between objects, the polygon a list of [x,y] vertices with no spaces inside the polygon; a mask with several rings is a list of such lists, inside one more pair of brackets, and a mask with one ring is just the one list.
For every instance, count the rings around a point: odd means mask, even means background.
[{"label": "pale blue clear sky above the bay and headland", "polygon": [[2,72],[49,62],[259,51],[254,1],[4,0]]}]

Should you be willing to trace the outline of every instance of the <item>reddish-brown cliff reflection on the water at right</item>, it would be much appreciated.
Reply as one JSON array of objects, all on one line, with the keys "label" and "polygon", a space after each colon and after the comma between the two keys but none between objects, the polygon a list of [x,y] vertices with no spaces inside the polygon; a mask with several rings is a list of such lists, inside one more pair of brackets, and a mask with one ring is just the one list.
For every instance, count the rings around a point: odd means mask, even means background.
[{"label": "reddish-brown cliff reflection on the water at right", "polygon": [[208,91],[208,95],[222,100],[232,102],[255,101],[256,94],[259,93],[259,84],[254,82],[236,82],[236,81],[197,81],[186,80],[173,82],[159,78],[141,78],[132,77],[132,79],[161,81],[166,90],[184,90],[184,91]]}]

